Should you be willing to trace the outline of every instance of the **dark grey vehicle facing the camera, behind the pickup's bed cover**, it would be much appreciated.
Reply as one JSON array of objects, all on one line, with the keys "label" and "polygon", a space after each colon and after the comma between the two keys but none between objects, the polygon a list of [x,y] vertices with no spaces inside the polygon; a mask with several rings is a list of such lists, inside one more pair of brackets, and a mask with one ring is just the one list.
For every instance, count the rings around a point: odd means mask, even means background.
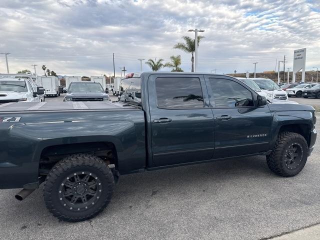
[{"label": "dark grey vehicle facing the camera, behind the pickup's bed cover", "polygon": [[65,91],[63,101],[109,101],[107,91],[99,82],[72,81]]}]

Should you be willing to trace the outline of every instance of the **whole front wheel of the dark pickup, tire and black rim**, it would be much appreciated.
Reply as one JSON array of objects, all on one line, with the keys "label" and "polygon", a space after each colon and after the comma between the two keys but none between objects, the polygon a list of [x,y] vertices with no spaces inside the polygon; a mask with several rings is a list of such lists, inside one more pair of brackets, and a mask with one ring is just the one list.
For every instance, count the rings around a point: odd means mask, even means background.
[{"label": "whole front wheel of the dark pickup, tire and black rim", "polygon": [[272,152],[266,156],[271,171],[280,176],[294,176],[304,167],[308,145],[304,137],[295,132],[280,132]]}]

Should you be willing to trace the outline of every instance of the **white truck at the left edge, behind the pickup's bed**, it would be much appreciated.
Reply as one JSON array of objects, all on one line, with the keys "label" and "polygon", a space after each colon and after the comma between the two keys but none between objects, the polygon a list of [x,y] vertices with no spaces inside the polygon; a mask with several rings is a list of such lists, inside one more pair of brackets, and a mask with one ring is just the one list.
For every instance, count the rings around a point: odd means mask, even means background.
[{"label": "white truck at the left edge, behind the pickup's bed", "polygon": [[36,86],[29,79],[7,77],[0,78],[0,104],[8,102],[41,101],[43,87]]}]

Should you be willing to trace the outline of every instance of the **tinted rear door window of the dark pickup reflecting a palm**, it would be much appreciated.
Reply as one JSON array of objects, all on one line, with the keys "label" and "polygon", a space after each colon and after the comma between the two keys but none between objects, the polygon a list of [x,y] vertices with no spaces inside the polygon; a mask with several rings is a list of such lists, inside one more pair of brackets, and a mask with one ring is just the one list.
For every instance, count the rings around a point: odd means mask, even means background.
[{"label": "tinted rear door window of the dark pickup reflecting a palm", "polygon": [[157,105],[160,108],[201,108],[203,95],[199,78],[157,77]]}]

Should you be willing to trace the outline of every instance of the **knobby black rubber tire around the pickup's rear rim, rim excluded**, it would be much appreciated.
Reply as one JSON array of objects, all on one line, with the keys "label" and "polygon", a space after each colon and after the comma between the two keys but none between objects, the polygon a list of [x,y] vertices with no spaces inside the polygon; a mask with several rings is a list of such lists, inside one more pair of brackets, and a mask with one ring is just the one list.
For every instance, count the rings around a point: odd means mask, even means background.
[{"label": "knobby black rubber tire around the pickup's rear rim, rim excluded", "polygon": [[[98,179],[100,187],[99,197],[96,197],[98,199],[93,199],[94,202],[87,205],[88,208],[85,206],[87,209],[83,207],[83,209],[78,208],[77,211],[75,211],[74,207],[70,210],[70,205],[65,206],[65,203],[61,200],[64,197],[61,197],[63,192],[59,193],[61,192],[61,185],[63,185],[61,182],[69,179],[67,176],[75,172],[79,172],[78,174],[90,172],[90,177],[96,176],[95,179]],[[92,179],[94,180],[94,178]],[[113,188],[113,174],[99,157],[86,153],[72,154],[58,161],[50,170],[44,183],[43,198],[45,206],[58,219],[63,221],[83,221],[96,216],[107,206],[111,199]]]}]

